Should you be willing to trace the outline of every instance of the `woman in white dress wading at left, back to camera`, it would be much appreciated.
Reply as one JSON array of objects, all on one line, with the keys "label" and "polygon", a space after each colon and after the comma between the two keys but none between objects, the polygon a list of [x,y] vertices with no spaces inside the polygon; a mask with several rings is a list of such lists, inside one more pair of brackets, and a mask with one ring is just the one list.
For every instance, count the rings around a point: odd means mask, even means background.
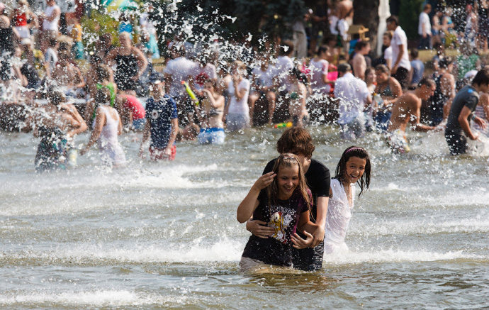
[{"label": "woman in white dress wading at left, back to camera", "polygon": [[99,145],[101,157],[112,167],[125,165],[125,155],[117,136],[122,133],[122,122],[117,110],[110,106],[111,94],[107,88],[99,89],[96,94],[99,107],[96,109],[94,130],[91,132],[89,143],[80,151],[84,155],[95,142]]}]

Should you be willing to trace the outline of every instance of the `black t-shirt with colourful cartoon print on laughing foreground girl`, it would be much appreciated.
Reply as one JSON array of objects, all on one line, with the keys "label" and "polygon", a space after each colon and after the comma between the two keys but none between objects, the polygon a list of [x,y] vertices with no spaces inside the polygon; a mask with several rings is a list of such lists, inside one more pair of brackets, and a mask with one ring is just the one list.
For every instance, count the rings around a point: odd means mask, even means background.
[{"label": "black t-shirt with colourful cartoon print on laughing foreground girl", "polygon": [[266,239],[250,236],[243,256],[270,265],[291,266],[291,236],[296,233],[300,214],[309,210],[307,202],[298,191],[290,199],[277,199],[274,204],[269,204],[266,191],[262,191],[258,195],[258,201],[253,219],[268,223],[269,227],[275,229],[275,233]]}]

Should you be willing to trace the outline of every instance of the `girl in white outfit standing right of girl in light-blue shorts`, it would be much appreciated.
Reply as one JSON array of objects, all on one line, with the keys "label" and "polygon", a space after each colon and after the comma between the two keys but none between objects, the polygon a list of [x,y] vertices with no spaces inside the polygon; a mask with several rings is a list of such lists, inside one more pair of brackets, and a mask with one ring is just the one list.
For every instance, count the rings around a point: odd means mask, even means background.
[{"label": "girl in white outfit standing right of girl in light-blue shorts", "polygon": [[229,131],[239,131],[249,127],[249,80],[245,79],[246,65],[240,60],[232,62],[232,79],[227,84],[230,103],[226,106],[224,118]]}]

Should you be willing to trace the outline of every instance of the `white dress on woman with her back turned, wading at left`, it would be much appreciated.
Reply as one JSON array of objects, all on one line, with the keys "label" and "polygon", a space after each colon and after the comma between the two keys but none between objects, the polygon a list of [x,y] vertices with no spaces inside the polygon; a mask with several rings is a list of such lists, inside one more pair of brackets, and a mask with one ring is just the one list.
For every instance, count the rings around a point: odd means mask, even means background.
[{"label": "white dress on woman with her back turned, wading at left", "polygon": [[[106,106],[100,106],[106,115],[106,125],[103,126],[97,145],[101,151],[102,160],[109,165],[124,165],[125,155],[118,141],[119,114],[113,119],[111,111]],[[94,121],[95,126],[96,121]]]}]

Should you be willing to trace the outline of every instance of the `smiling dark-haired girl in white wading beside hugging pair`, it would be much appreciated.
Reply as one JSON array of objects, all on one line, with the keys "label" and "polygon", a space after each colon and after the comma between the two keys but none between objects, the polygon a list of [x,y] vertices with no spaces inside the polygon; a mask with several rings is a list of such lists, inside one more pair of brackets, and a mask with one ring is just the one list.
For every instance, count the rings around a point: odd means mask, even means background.
[{"label": "smiling dark-haired girl in white wading beside hugging pair", "polygon": [[348,250],[344,238],[352,218],[355,183],[360,194],[370,185],[370,158],[364,148],[350,146],[344,150],[331,179],[330,202],[327,207],[325,226],[325,255],[342,249]]}]

